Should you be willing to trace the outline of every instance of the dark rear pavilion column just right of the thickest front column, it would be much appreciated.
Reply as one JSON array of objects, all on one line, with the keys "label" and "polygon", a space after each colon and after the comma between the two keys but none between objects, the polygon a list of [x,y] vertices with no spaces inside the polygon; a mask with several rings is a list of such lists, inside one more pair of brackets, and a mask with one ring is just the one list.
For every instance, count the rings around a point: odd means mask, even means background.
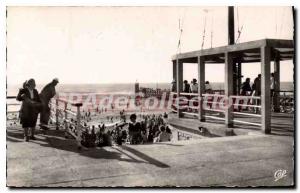
[{"label": "dark rear pavilion column just right of the thickest front column", "polygon": [[275,80],[275,93],[274,93],[274,111],[280,112],[280,105],[279,105],[279,97],[280,97],[280,58],[276,57],[274,60],[274,80]]}]

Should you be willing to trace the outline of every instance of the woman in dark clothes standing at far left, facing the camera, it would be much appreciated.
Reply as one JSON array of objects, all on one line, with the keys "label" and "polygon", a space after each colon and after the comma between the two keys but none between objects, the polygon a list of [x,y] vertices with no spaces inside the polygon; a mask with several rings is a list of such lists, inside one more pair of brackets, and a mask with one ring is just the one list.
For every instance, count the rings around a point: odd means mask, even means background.
[{"label": "woman in dark clothes standing at far left, facing the camera", "polygon": [[31,129],[30,139],[35,140],[34,130],[41,109],[41,100],[38,91],[35,89],[35,80],[28,80],[27,84],[19,90],[17,100],[22,101],[20,119],[24,128],[25,141],[29,141],[28,130]]}]

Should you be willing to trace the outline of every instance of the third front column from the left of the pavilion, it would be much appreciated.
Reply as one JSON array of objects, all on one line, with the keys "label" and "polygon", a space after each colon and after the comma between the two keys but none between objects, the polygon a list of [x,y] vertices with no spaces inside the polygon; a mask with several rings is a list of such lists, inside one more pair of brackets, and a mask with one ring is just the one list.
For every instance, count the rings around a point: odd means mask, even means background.
[{"label": "third front column from the left of the pavilion", "polygon": [[[233,59],[230,53],[225,53],[225,97],[230,102],[230,96],[233,95]],[[233,127],[233,106],[226,104],[225,110],[225,124],[227,127]]]}]

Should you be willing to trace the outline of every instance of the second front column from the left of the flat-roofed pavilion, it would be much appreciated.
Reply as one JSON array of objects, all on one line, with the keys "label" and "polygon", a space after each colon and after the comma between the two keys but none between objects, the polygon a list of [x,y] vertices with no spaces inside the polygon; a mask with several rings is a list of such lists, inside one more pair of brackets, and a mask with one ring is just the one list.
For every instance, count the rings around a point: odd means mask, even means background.
[{"label": "second front column from the left of the flat-roofed pavilion", "polygon": [[205,93],[205,60],[204,57],[198,56],[198,99],[199,99],[199,120],[205,121],[205,110],[203,109],[203,97]]}]

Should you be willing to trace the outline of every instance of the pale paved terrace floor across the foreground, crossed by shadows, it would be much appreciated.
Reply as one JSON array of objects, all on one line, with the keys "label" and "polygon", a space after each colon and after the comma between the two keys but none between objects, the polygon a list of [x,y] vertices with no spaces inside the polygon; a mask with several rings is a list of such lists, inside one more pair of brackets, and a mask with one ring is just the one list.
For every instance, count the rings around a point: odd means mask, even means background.
[{"label": "pale paved terrace floor across the foreground, crossed by shadows", "polygon": [[[7,127],[7,186],[289,186],[293,136],[242,135],[78,151],[61,131]],[[275,181],[277,170],[286,176]]]}]

